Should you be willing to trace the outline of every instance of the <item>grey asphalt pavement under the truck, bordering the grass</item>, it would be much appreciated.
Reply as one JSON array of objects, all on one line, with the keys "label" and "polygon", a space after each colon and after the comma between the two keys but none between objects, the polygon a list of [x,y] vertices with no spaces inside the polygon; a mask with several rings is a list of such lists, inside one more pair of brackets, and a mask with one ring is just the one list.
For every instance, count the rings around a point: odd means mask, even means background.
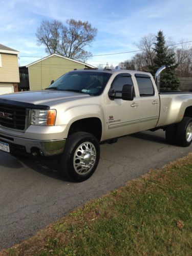
[{"label": "grey asphalt pavement under the truck, bordering the grass", "polygon": [[31,237],[77,206],[192,151],[168,145],[164,132],[142,132],[101,145],[95,174],[82,183],[63,180],[56,161],[17,160],[0,152],[0,249]]}]

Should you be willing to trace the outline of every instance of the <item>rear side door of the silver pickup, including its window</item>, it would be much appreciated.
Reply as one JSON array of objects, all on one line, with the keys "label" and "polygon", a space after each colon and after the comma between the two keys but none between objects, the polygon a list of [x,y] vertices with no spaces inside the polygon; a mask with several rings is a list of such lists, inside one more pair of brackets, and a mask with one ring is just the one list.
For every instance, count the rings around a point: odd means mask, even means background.
[{"label": "rear side door of the silver pickup, including its window", "polygon": [[156,127],[159,119],[160,100],[151,77],[135,74],[140,95],[140,131]]}]

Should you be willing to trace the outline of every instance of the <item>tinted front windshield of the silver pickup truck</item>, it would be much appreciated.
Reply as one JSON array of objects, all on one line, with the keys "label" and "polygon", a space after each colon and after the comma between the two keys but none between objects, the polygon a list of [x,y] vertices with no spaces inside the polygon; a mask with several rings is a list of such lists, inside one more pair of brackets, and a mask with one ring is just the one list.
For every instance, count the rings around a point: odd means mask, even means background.
[{"label": "tinted front windshield of the silver pickup truck", "polygon": [[73,71],[58,78],[47,90],[74,91],[90,95],[100,95],[111,75],[104,72]]}]

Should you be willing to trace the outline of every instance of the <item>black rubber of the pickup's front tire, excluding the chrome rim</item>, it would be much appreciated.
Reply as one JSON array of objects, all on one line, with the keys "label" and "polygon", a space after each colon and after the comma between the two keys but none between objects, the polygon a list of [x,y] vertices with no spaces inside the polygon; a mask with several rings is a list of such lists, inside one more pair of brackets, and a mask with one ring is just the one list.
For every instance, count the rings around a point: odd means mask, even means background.
[{"label": "black rubber of the pickup's front tire, excluding the chrome rim", "polygon": [[[77,150],[77,147],[83,142],[93,143],[96,149],[96,161],[90,173],[85,175],[79,175],[74,169],[73,158],[74,158],[75,151]],[[89,133],[76,132],[69,136],[66,142],[65,150],[63,151],[63,154],[60,156],[60,159],[59,159],[60,173],[71,181],[81,182],[81,181],[87,180],[95,172],[97,165],[99,163],[99,157],[100,157],[99,142],[97,141],[95,136]]]}]

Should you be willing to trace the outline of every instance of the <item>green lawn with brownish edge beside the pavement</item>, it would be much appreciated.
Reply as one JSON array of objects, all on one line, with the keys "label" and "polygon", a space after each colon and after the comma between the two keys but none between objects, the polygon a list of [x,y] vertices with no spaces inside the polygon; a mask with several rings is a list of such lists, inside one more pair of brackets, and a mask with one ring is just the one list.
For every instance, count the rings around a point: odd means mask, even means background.
[{"label": "green lawn with brownish edge beside the pavement", "polygon": [[2,254],[192,255],[192,154],[74,210]]}]

